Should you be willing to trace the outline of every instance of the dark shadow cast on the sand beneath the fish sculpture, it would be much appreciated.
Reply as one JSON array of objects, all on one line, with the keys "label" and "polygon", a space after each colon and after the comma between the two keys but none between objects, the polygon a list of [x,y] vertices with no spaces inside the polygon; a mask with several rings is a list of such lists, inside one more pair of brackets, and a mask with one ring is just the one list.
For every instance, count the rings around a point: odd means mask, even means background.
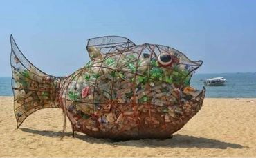
[{"label": "dark shadow cast on the sand beneath the fish sculpture", "polygon": [[[46,137],[62,137],[62,132],[54,132],[48,130],[33,130],[29,128],[20,128],[23,132],[29,132],[36,135],[43,135]],[[72,137],[71,132],[65,132],[65,137]],[[194,137],[189,135],[173,135],[172,139],[140,139],[140,140],[130,140],[130,141],[113,141],[111,139],[96,139],[89,137],[87,135],[81,135],[75,133],[75,137],[82,139],[91,144],[109,144],[109,145],[120,145],[120,146],[137,146],[143,148],[147,147],[170,147],[170,148],[246,148],[240,144],[232,144],[216,139],[208,139],[203,137]]]}]

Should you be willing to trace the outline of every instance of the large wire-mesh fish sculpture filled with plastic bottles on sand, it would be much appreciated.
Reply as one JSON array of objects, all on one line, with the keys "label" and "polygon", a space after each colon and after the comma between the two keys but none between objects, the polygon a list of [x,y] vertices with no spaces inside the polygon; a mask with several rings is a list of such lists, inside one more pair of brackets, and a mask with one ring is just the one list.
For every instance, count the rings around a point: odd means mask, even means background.
[{"label": "large wire-mesh fish sculpture filled with plastic bottles on sand", "polygon": [[89,39],[91,61],[68,77],[36,68],[10,38],[17,128],[33,112],[61,108],[73,132],[110,139],[168,138],[201,109],[205,88],[190,87],[202,61],[168,46],[125,37]]}]

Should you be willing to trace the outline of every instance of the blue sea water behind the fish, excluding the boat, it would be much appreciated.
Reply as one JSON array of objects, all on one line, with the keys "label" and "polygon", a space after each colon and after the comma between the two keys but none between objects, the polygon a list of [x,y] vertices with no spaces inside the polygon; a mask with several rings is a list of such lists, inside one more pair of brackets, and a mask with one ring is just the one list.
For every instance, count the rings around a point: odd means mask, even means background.
[{"label": "blue sea water behind the fish, excluding the boat", "polygon": [[[205,86],[206,97],[256,98],[256,73],[194,74],[190,85],[201,90],[203,81],[213,77],[224,77],[224,86]],[[12,96],[11,78],[0,77],[0,96]]]}]

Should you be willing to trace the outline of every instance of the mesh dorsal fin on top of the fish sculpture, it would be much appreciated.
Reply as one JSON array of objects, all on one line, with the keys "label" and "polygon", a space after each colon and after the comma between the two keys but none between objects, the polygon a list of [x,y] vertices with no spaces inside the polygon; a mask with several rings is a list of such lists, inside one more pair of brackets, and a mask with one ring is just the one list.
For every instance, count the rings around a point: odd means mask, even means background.
[{"label": "mesh dorsal fin on top of the fish sculpture", "polygon": [[89,39],[86,49],[89,53],[89,57],[93,60],[104,54],[111,53],[116,50],[122,51],[132,46],[136,46],[136,44],[125,37],[104,36]]}]

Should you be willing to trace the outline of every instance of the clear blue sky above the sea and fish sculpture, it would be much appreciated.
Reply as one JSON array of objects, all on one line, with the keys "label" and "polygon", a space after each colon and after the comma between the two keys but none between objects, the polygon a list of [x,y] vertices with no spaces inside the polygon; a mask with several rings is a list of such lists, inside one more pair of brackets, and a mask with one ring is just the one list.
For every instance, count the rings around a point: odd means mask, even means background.
[{"label": "clear blue sky above the sea and fish sculpture", "polygon": [[119,35],[203,60],[196,73],[256,72],[256,1],[1,1],[0,77],[10,77],[10,34],[50,75],[89,61],[86,41]]}]

